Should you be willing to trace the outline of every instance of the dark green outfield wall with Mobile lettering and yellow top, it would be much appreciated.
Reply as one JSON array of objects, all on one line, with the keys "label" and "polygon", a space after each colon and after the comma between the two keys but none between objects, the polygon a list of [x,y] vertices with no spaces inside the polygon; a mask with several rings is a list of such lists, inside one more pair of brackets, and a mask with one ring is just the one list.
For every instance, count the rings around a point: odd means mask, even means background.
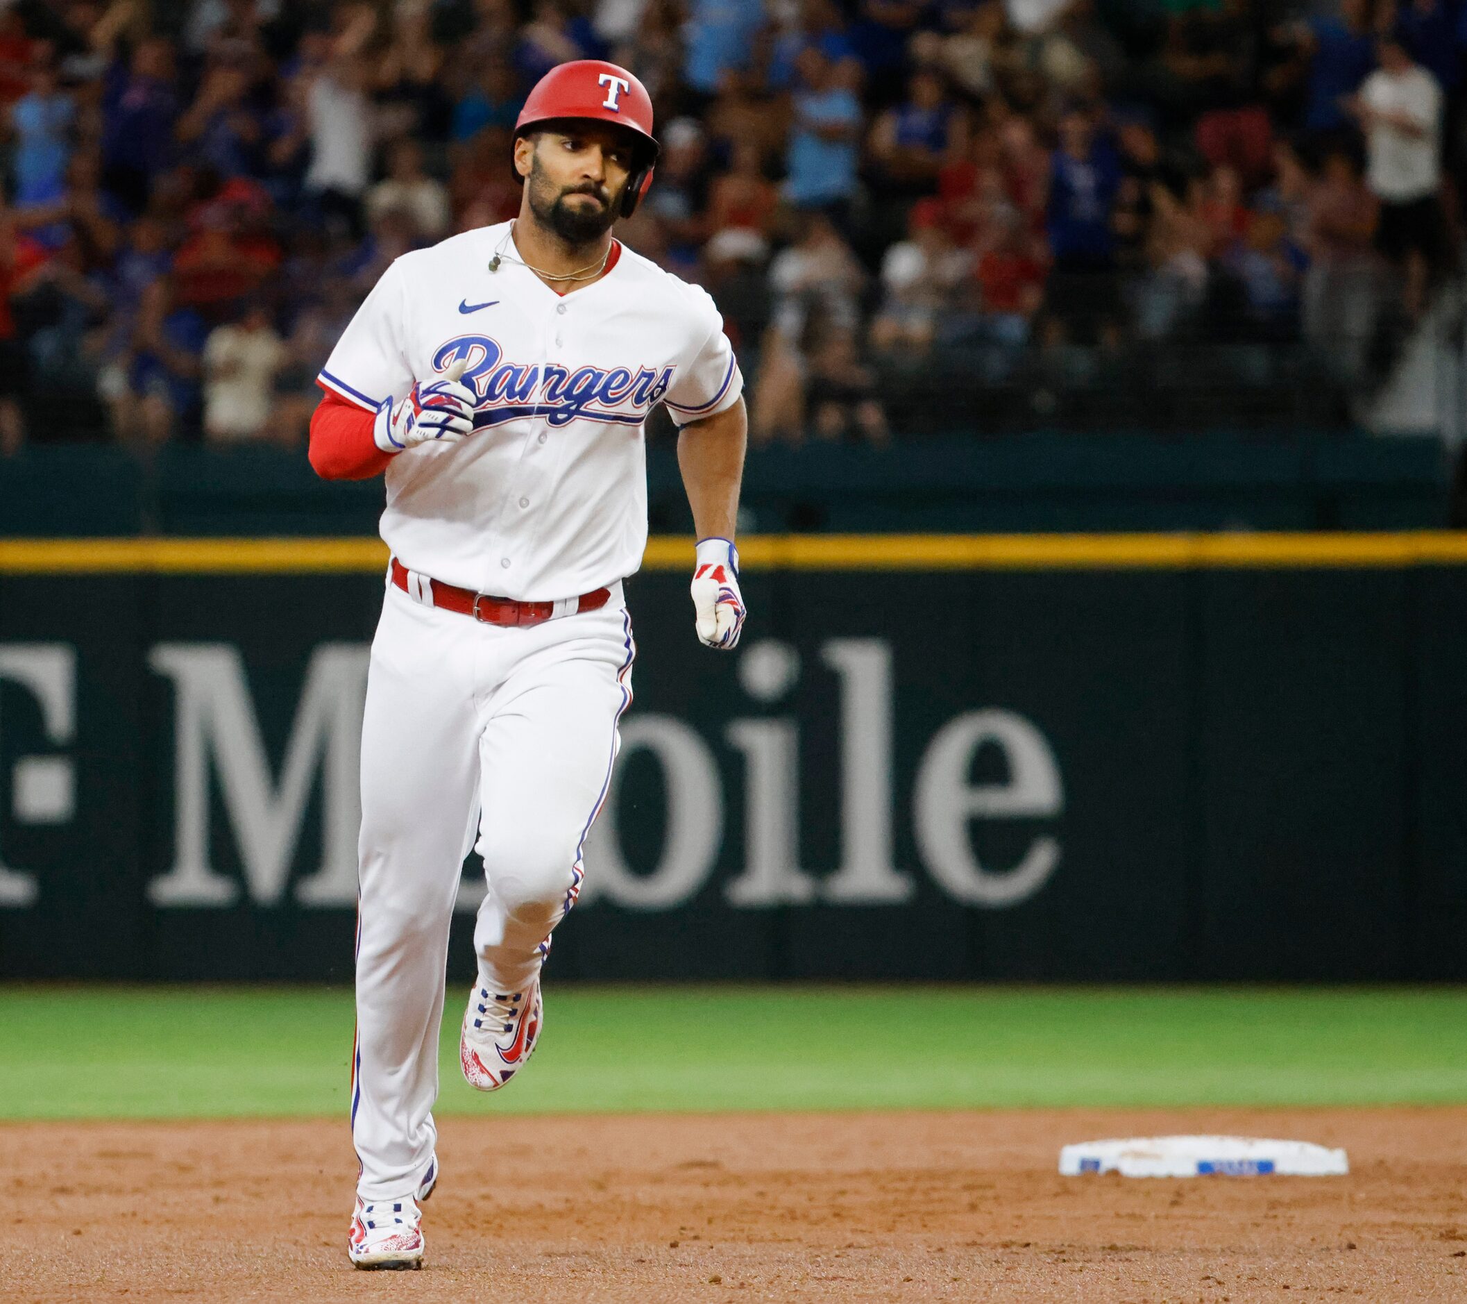
[{"label": "dark green outfield wall with Mobile lettering and yellow top", "polygon": [[[732,656],[694,642],[687,542],[628,584],[559,977],[1467,978],[1467,536],[744,558]],[[0,540],[0,977],[349,975],[383,564]]]}]

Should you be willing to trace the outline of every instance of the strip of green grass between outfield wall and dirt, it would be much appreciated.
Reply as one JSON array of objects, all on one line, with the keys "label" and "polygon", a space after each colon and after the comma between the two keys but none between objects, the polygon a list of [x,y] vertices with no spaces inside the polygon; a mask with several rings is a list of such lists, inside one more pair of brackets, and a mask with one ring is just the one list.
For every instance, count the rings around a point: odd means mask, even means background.
[{"label": "strip of green grass between outfield wall and dirt", "polygon": [[[550,985],[509,1090],[440,1113],[1467,1101],[1467,990]],[[343,1113],[339,988],[0,987],[0,1118]]]}]

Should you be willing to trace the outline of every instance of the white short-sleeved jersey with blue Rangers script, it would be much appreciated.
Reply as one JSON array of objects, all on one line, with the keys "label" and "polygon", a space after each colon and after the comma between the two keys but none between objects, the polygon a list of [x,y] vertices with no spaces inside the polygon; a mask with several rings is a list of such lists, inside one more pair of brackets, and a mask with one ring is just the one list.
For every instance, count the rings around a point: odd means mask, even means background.
[{"label": "white short-sleeved jersey with blue Rangers script", "polygon": [[625,247],[600,280],[556,294],[519,261],[509,223],[398,258],[320,374],[368,410],[455,361],[475,430],[387,467],[381,537],[409,570],[521,601],[632,574],[647,545],[644,423],[720,413],[744,388],[709,294]]}]

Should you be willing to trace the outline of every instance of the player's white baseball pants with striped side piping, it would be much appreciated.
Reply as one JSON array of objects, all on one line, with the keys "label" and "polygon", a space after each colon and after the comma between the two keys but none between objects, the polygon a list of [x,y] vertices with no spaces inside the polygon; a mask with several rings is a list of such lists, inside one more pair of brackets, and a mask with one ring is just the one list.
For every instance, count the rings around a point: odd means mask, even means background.
[{"label": "player's white baseball pants with striped side piping", "polygon": [[[634,645],[621,584],[600,611],[481,624],[387,586],[362,721],[352,1141],[362,1200],[433,1164],[449,924],[484,858],[478,981],[521,991],[574,903],[606,799]],[[465,987],[465,999],[468,988]]]}]

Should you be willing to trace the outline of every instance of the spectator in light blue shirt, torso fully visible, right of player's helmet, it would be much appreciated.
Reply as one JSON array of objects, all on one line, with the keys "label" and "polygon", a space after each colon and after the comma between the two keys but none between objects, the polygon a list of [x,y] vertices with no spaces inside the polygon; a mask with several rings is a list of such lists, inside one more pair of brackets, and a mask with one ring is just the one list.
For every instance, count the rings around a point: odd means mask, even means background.
[{"label": "spectator in light blue shirt, torso fully visible, right of player's helmet", "polygon": [[817,46],[797,63],[804,90],[794,97],[785,198],[797,209],[844,209],[855,195],[861,103],[851,65],[836,66]]}]

